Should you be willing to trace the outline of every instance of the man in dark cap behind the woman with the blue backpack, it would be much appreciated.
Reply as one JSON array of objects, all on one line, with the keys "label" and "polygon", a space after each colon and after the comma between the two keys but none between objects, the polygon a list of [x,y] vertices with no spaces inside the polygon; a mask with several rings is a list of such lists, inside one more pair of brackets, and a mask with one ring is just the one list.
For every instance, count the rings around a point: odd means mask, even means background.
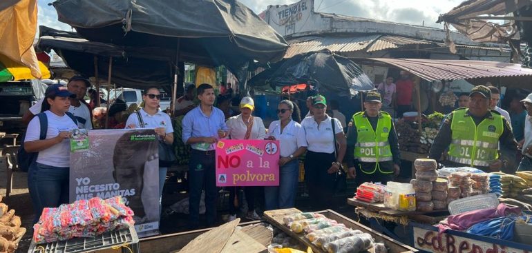
[{"label": "man in dark cap behind the woman with the blue backpack", "polygon": [[[88,110],[88,106],[85,103],[82,103],[82,100],[87,92],[87,88],[90,86],[91,82],[82,76],[72,77],[70,80],[68,80],[68,84],[66,85],[66,88],[69,92],[76,94],[75,98],[70,99],[70,109],[68,109],[68,112],[74,114],[77,120],[77,127],[84,128],[86,130],[93,129],[91,111]],[[24,123],[29,123],[31,119],[35,117],[35,115],[41,113],[43,101],[44,99],[40,99],[37,101],[37,103],[35,103],[35,105],[30,107],[28,112],[24,113],[22,117],[22,121]]]}]

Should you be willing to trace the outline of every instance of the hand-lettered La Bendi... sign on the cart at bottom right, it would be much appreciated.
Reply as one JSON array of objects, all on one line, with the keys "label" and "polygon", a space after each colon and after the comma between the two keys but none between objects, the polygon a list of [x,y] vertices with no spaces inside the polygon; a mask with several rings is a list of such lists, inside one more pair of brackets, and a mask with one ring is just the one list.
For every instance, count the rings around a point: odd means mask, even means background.
[{"label": "hand-lettered La Bendi... sign on the cart at bottom right", "polygon": [[437,231],[420,227],[414,227],[414,246],[419,250],[434,253],[529,253],[528,250],[447,233],[438,236]]}]

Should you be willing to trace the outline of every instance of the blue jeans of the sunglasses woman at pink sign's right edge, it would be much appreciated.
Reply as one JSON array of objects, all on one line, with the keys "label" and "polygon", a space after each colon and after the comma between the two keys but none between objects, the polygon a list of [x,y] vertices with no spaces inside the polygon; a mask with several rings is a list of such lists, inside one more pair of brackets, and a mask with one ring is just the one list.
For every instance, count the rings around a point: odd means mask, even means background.
[{"label": "blue jeans of the sunglasses woman at pink sign's right edge", "polygon": [[293,208],[299,179],[299,161],[294,160],[279,168],[279,186],[265,186],[265,210]]}]

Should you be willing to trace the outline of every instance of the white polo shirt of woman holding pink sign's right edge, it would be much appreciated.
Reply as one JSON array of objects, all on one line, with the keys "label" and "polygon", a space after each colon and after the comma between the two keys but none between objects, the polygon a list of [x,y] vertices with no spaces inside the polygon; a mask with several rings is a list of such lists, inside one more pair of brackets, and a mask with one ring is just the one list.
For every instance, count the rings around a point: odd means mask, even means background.
[{"label": "white polo shirt of woman holding pink sign's right edge", "polygon": [[279,150],[281,150],[281,157],[288,157],[294,154],[300,147],[306,147],[307,141],[300,135],[301,125],[296,121],[290,121],[281,133],[281,121],[273,121],[269,124],[266,137],[274,136],[279,141]]}]

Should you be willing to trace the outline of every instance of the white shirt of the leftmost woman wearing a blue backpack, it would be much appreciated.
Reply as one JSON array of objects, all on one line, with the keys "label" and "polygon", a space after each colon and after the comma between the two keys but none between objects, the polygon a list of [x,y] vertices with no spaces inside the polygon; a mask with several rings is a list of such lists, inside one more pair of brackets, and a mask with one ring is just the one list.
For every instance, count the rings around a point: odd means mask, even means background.
[{"label": "white shirt of the leftmost woman wearing a blue backpack", "polygon": [[[77,125],[64,114],[58,116],[49,110],[44,112],[48,118],[48,130],[46,130],[46,139],[55,138],[59,132],[68,132],[77,129]],[[41,135],[41,121],[39,117],[34,117],[28,124],[24,142],[37,141]],[[70,139],[64,139],[46,150],[39,151],[37,163],[44,165],[68,168],[70,167]]]}]

